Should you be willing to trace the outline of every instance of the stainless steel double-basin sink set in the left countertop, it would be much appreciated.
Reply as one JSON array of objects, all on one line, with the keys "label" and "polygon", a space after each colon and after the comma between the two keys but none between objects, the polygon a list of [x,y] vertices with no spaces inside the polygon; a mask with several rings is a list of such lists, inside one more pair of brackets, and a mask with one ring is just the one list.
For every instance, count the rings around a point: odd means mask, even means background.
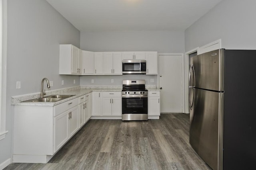
[{"label": "stainless steel double-basin sink set in the left countertop", "polygon": [[60,100],[70,98],[72,96],[76,96],[76,95],[54,94],[54,95],[50,95],[50,96],[44,96],[43,98],[25,100],[22,102],[58,102]]}]

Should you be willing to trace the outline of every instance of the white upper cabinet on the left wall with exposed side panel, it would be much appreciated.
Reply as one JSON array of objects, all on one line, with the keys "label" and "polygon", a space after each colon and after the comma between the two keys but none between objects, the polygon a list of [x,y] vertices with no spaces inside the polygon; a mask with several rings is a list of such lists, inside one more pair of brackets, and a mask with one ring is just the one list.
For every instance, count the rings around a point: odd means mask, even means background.
[{"label": "white upper cabinet on the left wall with exposed side panel", "polygon": [[59,62],[59,74],[82,73],[82,51],[74,45],[60,45]]}]

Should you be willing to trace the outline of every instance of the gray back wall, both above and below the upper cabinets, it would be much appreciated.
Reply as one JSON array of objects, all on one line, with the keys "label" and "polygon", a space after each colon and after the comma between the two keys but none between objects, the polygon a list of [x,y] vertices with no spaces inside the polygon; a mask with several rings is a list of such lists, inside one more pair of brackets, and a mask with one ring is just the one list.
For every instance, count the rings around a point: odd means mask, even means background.
[{"label": "gray back wall, both above and below the upper cabinets", "polygon": [[[81,32],[80,48],[87,51],[158,51],[184,53],[184,31],[86,31]],[[150,82],[153,78],[154,82]],[[94,79],[94,83],[91,83]],[[111,83],[114,79],[114,83]],[[157,76],[81,76],[86,86],[121,86],[122,80],[144,79],[146,85],[157,85]]]}]

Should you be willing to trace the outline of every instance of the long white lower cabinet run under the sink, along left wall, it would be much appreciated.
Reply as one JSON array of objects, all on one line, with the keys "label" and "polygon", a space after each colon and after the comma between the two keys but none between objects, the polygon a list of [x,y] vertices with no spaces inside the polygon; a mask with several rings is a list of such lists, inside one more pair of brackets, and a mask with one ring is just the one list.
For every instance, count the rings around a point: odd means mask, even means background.
[{"label": "long white lower cabinet run under the sink, along left wall", "polygon": [[47,163],[90,119],[90,94],[84,97],[56,106],[15,105],[13,162]]}]

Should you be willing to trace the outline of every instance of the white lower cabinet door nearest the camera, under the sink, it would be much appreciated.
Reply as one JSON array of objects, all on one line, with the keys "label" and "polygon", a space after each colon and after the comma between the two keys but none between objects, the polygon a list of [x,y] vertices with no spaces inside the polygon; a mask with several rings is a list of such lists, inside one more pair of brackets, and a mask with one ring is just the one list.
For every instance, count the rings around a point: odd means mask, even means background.
[{"label": "white lower cabinet door nearest the camera, under the sink", "polygon": [[54,152],[68,141],[68,111],[54,118]]}]

